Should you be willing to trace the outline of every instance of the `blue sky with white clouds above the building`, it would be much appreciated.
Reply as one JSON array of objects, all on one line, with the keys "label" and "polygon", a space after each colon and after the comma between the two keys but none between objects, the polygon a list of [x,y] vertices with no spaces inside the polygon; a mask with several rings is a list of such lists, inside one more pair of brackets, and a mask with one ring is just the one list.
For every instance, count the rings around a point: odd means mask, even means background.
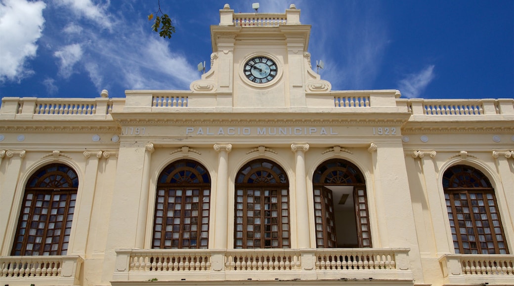
[{"label": "blue sky with white clouds above the building", "polygon": [[514,1],[161,0],[177,32],[151,31],[157,0],[0,0],[0,96],[124,97],[189,90],[209,62],[210,25],[237,13],[284,13],[311,25],[308,51],[332,90],[402,97],[514,97]]}]

